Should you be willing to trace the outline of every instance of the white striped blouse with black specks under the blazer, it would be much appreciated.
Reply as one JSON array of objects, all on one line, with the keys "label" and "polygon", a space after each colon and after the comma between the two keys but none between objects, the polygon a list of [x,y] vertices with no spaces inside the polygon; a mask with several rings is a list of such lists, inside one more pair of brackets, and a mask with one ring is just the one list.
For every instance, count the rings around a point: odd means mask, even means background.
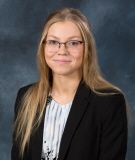
[{"label": "white striped blouse with black specks under the blazer", "polygon": [[46,106],[41,160],[57,160],[61,137],[72,102],[61,105],[51,99]]}]

